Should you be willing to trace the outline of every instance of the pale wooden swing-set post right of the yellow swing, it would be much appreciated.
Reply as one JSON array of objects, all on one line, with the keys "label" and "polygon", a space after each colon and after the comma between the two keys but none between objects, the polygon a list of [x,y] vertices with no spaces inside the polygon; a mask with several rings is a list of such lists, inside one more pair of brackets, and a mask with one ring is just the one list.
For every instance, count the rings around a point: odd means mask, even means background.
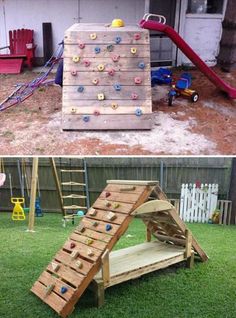
[{"label": "pale wooden swing-set post right of the yellow swing", "polygon": [[39,158],[34,157],[33,158],[33,168],[32,168],[32,179],[31,179],[28,232],[34,232],[35,200],[36,200],[37,181],[38,181],[38,162],[39,162]]}]

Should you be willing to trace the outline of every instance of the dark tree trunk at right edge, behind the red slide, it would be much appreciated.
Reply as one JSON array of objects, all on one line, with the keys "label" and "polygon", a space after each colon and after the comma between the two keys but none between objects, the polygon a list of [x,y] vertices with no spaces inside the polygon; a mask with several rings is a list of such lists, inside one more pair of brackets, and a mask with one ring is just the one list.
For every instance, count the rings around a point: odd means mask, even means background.
[{"label": "dark tree trunk at right edge, behind the red slide", "polygon": [[236,6],[235,0],[228,0],[225,18],[222,23],[223,32],[220,42],[218,63],[222,70],[230,72],[236,68]]}]

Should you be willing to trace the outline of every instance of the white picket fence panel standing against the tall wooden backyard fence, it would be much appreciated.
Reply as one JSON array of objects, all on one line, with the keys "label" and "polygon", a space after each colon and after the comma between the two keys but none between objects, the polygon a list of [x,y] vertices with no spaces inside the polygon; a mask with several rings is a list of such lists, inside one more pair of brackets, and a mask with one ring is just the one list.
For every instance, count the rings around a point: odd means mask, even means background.
[{"label": "white picket fence panel standing against the tall wooden backyard fence", "polygon": [[217,207],[218,184],[182,184],[180,217],[185,222],[206,223]]}]

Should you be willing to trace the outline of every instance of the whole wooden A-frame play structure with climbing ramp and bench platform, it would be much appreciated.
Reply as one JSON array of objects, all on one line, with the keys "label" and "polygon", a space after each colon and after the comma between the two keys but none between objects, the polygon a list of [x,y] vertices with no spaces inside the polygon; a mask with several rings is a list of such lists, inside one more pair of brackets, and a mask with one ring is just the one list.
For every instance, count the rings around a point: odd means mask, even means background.
[{"label": "whole wooden A-frame play structure with climbing ramp and bench platform", "polygon": [[[111,252],[134,217],[147,242]],[[101,305],[106,288],[182,261],[191,267],[195,254],[207,260],[157,182],[110,180],[31,291],[67,317],[88,287]]]}]

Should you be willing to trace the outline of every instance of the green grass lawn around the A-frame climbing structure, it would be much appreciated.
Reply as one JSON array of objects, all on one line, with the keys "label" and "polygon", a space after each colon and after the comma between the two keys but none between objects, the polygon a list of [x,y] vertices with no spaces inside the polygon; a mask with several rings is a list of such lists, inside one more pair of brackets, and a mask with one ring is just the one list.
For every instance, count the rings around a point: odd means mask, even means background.
[{"label": "green grass lawn around the A-frame climbing structure", "polygon": [[[207,263],[196,262],[192,270],[170,267],[111,287],[100,309],[85,292],[71,317],[236,317],[236,227],[189,227],[209,255]],[[60,215],[47,214],[36,219],[35,233],[26,228],[26,221],[0,214],[0,317],[58,317],[30,288],[74,226],[63,228]],[[144,240],[144,226],[135,220],[116,248]]]}]

